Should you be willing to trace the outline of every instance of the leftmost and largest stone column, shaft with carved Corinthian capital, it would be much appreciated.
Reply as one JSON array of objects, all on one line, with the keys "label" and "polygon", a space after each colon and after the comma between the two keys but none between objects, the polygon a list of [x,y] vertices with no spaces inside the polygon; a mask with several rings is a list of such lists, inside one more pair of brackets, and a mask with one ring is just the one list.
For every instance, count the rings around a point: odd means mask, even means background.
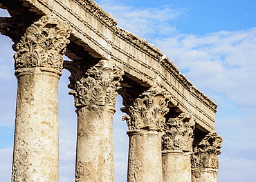
[{"label": "leftmost and largest stone column, shaft with carved Corinthian capital", "polygon": [[[7,22],[12,20],[10,18]],[[8,23],[3,23],[1,28],[5,30],[3,34],[10,35],[15,41],[15,75],[18,80],[12,181],[57,182],[57,90],[70,30],[54,17],[42,17],[19,37],[22,34],[19,26]]]}]

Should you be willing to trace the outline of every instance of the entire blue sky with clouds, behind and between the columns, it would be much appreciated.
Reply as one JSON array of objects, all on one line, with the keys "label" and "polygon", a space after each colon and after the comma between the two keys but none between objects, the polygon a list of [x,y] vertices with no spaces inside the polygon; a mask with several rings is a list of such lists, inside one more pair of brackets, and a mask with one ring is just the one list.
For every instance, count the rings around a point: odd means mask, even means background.
[{"label": "entire blue sky with clouds, behind and between the columns", "polygon": [[[256,181],[256,1],[98,0],[118,26],[160,48],[179,70],[218,103],[223,136],[219,182]],[[1,16],[7,16],[0,10]],[[0,179],[10,181],[17,80],[8,37],[0,36]],[[60,79],[60,181],[73,181],[76,116]],[[117,110],[121,108],[118,97]],[[126,181],[127,127],[115,114],[116,181]]]}]

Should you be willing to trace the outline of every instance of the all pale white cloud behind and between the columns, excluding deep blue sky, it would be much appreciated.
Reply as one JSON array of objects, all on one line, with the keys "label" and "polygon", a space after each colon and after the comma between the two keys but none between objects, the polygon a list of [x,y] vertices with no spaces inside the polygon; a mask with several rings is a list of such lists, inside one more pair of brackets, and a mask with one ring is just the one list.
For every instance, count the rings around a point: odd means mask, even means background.
[{"label": "all pale white cloud behind and between the columns, excluding deep blue sky", "polygon": [[[185,10],[170,6],[134,8],[116,0],[102,0],[102,8],[126,28],[158,46],[200,90],[216,99],[217,132],[223,136],[219,181],[255,181],[256,128],[256,28],[221,31],[204,36],[178,34],[170,22],[186,16]],[[1,16],[7,16],[0,10]],[[0,37],[0,125],[13,127],[16,78],[13,76],[12,43]],[[62,78],[67,78],[64,72]],[[73,181],[76,116],[67,79],[60,80],[60,181]],[[120,108],[120,98],[118,107]],[[235,109],[234,109],[235,108]],[[232,110],[230,112],[229,110]],[[238,114],[237,112],[242,112]],[[115,117],[116,181],[126,181],[127,127]],[[235,116],[235,117],[234,117]],[[0,179],[10,181],[12,149],[0,149]]]}]

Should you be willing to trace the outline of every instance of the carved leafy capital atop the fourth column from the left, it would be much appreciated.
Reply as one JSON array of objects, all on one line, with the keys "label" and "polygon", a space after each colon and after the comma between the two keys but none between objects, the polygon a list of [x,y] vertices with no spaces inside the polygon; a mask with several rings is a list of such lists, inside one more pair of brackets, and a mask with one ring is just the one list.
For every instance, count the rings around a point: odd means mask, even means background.
[{"label": "carved leafy capital atop the fourth column from the left", "polygon": [[192,152],[194,125],[194,118],[188,113],[181,113],[179,117],[168,119],[163,135],[163,150]]}]

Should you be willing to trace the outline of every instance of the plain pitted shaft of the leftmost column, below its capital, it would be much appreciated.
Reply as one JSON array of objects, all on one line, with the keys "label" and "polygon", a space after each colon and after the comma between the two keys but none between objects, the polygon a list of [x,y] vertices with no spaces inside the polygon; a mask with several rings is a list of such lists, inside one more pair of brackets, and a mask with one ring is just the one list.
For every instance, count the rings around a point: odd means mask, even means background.
[{"label": "plain pitted shaft of the leftmost column, below its capital", "polygon": [[59,76],[40,68],[21,68],[18,92],[12,181],[58,181]]}]

